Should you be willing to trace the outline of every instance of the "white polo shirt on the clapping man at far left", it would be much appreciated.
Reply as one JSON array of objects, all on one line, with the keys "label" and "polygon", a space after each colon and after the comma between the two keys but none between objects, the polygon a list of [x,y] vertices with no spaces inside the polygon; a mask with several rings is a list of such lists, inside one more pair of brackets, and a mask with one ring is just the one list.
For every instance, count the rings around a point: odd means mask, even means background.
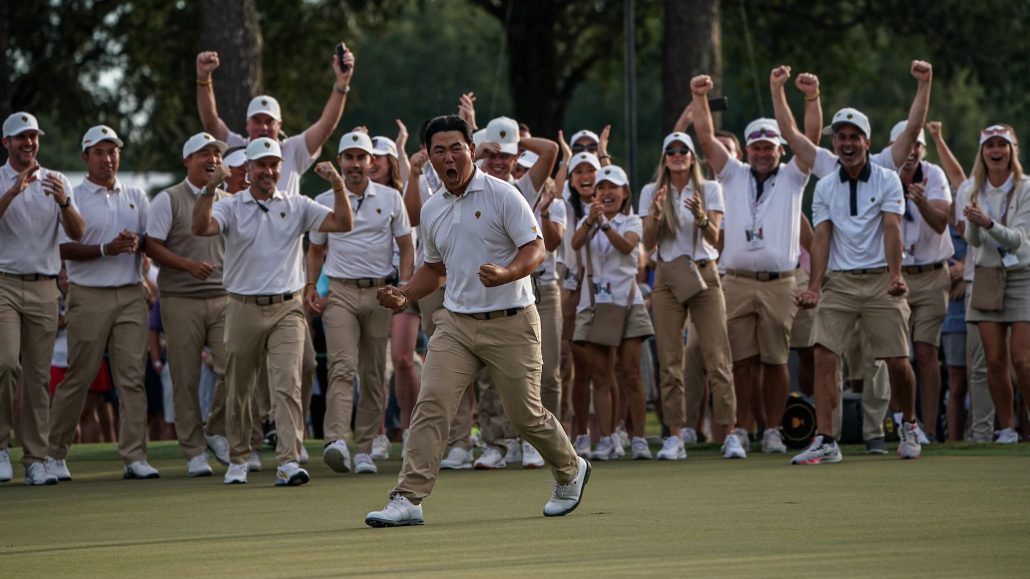
[{"label": "white polo shirt on the clapping man at far left", "polygon": [[[43,190],[47,174],[61,176],[64,193],[75,203],[71,182],[57,171],[40,168],[36,180],[29,183],[7,206],[0,217],[0,271],[13,274],[57,275],[61,273],[61,208]],[[0,195],[13,186],[18,171],[10,162],[0,167]],[[77,207],[77,205],[76,205]]]}]

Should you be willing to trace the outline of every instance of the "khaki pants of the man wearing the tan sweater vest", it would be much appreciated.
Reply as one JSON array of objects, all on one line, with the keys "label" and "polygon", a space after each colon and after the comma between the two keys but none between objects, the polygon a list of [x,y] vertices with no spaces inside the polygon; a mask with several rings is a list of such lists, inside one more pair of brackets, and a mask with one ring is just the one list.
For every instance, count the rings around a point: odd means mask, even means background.
[{"label": "khaki pants of the man wearing the tan sweater vest", "polygon": [[[175,436],[186,458],[207,449],[204,433],[226,435],[226,304],[228,296],[161,300],[161,322],[168,341]],[[204,424],[200,412],[201,352],[207,346],[214,365],[214,397]]]}]

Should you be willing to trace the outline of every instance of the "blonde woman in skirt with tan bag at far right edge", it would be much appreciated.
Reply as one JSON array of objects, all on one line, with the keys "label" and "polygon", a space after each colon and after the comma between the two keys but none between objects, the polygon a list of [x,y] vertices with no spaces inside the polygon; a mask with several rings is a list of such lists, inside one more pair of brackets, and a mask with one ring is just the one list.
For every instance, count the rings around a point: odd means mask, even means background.
[{"label": "blonde woman in skirt with tan bag at far right edge", "polygon": [[[1011,127],[984,129],[972,179],[959,191],[960,199],[968,200],[962,211],[964,237],[975,266],[966,320],[976,325],[984,342],[987,385],[1001,429],[995,442],[1001,444],[1019,442],[1009,354],[1023,400],[1030,400],[1030,179],[1018,157],[1019,141]],[[977,283],[984,285],[977,288]],[[977,300],[982,291],[998,285],[1004,287],[1000,303]]]}]

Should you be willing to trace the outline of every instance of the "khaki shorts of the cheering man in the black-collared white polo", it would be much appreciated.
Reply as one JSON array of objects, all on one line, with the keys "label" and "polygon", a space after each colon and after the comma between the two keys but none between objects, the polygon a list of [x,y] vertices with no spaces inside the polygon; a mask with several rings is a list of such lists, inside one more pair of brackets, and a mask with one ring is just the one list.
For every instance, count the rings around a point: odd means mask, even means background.
[{"label": "khaki shorts of the cheering man in the black-collared white polo", "polygon": [[887,294],[888,279],[886,272],[830,274],[816,308],[815,342],[842,354],[860,319],[870,337],[870,357],[908,357],[908,303]]}]

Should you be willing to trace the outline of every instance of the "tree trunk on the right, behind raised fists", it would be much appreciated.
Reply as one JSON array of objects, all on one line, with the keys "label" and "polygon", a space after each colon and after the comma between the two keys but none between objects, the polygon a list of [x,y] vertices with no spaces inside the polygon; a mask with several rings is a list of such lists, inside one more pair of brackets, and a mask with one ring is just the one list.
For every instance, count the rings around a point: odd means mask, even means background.
[{"label": "tree trunk on the right, behind raised fists", "polygon": [[693,76],[712,76],[716,87],[713,96],[719,95],[722,89],[719,3],[719,0],[665,0],[661,124],[666,132],[673,130],[683,108],[690,103]]}]

